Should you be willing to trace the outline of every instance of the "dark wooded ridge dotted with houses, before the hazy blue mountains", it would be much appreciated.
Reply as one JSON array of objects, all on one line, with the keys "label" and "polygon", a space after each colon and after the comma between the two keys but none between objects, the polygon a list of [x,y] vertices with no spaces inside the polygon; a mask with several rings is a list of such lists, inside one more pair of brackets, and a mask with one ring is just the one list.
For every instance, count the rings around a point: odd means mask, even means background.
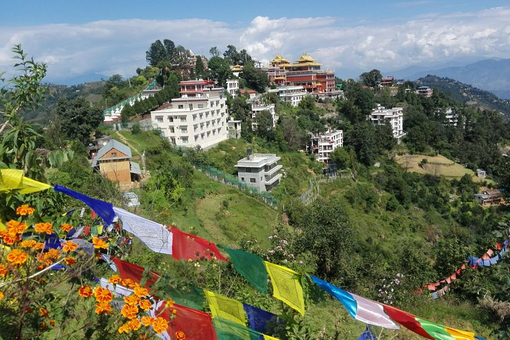
[{"label": "dark wooded ridge dotted with houses, before the hazy blue mountains", "polygon": [[436,87],[439,91],[448,94],[451,98],[467,106],[491,111],[499,111],[510,117],[510,103],[504,101],[489,91],[477,89],[455,79],[426,76],[414,81],[416,84]]}]

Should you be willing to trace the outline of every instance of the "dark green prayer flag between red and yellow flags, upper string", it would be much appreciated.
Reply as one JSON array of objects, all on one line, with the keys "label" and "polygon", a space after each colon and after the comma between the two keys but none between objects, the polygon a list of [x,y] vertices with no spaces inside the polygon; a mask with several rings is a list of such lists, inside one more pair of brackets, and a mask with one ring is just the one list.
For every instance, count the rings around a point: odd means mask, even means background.
[{"label": "dark green prayer flag between red and yellow flags, upper string", "polygon": [[267,293],[268,274],[263,259],[260,256],[238,249],[230,249],[219,244],[217,246],[227,251],[237,273],[246,278],[256,290],[259,290],[261,293]]}]

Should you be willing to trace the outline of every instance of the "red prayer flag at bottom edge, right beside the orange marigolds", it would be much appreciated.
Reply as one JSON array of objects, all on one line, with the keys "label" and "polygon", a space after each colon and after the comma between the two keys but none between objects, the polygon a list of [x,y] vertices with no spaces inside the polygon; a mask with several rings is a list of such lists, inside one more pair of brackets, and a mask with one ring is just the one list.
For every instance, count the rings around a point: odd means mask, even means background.
[{"label": "red prayer flag at bottom edge, right beside the orange marigolds", "polygon": [[[158,315],[163,308],[164,303],[156,314]],[[176,317],[169,322],[169,327],[166,329],[171,339],[181,339],[178,334],[183,332],[186,338],[182,339],[186,340],[217,340],[210,314],[175,304],[174,307],[163,310],[159,317],[170,319],[171,310],[177,312]]]}]

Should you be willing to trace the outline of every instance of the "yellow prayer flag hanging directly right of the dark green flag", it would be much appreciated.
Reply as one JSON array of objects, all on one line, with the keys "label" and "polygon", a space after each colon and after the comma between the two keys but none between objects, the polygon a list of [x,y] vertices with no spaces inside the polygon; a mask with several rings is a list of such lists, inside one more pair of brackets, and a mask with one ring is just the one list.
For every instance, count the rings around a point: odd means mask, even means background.
[{"label": "yellow prayer flag hanging directly right of the dark green flag", "polygon": [[305,300],[303,299],[302,286],[292,269],[278,266],[264,261],[271,283],[273,284],[273,296],[293,307],[301,315],[305,315]]}]

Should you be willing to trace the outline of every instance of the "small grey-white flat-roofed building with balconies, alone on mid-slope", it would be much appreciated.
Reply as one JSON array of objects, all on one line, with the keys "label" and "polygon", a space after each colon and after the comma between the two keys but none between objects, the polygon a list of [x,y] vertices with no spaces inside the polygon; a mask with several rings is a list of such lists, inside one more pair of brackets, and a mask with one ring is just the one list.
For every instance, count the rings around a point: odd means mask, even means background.
[{"label": "small grey-white flat-roofed building with balconies, alone on mid-slope", "polygon": [[249,150],[247,156],[237,162],[238,180],[259,192],[270,191],[282,178],[279,161],[276,154],[251,154]]}]

